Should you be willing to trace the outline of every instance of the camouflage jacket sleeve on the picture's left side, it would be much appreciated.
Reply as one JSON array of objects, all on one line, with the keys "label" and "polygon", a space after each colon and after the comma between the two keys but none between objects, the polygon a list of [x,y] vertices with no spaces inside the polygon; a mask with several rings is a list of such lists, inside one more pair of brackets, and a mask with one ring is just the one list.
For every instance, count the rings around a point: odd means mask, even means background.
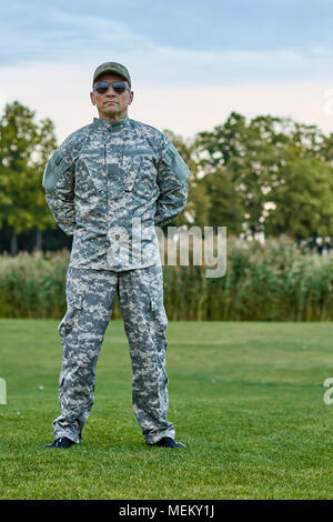
[{"label": "camouflage jacket sleeve on the picture's left side", "polygon": [[74,172],[70,155],[65,153],[65,148],[60,145],[51,155],[42,181],[53,218],[68,235],[72,235],[75,228]]}]

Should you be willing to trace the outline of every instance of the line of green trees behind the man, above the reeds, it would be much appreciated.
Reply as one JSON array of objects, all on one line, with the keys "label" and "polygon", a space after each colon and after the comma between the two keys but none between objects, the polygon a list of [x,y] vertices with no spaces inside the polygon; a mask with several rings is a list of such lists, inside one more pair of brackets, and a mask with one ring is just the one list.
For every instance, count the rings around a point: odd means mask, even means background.
[{"label": "line of green trees behind the man, above the reeds", "polygon": [[[333,133],[291,118],[231,112],[185,140],[165,129],[190,168],[189,200],[172,224],[226,227],[228,234],[289,235],[333,248]],[[54,124],[8,103],[0,121],[0,251],[57,250],[57,229],[41,185],[57,148]]]}]

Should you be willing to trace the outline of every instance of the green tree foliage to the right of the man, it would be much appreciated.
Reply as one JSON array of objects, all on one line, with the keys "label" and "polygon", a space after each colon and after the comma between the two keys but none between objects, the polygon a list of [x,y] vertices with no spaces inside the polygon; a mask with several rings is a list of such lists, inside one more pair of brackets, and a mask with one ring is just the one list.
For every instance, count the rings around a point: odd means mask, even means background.
[{"label": "green tree foliage to the right of the man", "polygon": [[333,168],[316,127],[271,116],[246,123],[232,112],[199,133],[196,145],[211,224],[295,239],[333,234]]}]

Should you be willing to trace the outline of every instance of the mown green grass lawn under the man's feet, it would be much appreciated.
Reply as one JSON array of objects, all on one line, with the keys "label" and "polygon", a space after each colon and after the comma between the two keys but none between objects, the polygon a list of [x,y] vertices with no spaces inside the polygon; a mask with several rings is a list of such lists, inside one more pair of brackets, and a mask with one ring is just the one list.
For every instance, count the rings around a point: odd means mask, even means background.
[{"label": "mown green grass lawn under the man's feet", "polygon": [[59,414],[58,324],[0,320],[1,499],[333,499],[333,323],[170,322],[178,451],[144,443],[113,320],[82,443],[43,448]]}]

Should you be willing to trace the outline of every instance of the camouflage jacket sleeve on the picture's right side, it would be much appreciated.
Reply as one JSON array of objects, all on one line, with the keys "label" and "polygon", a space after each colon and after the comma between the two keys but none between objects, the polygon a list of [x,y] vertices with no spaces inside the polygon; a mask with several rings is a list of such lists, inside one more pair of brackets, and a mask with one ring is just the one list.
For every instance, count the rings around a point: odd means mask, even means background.
[{"label": "camouflage jacket sleeve on the picture's right side", "polygon": [[168,140],[158,167],[160,195],[157,201],[154,223],[164,227],[185,208],[189,185],[189,168],[176,148]]}]

